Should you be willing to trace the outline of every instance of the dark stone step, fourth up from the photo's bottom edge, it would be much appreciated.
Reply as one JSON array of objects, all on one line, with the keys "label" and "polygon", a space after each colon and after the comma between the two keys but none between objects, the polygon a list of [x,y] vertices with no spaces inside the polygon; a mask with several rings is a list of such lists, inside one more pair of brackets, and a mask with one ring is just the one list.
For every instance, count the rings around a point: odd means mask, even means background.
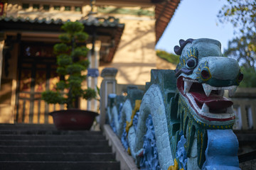
[{"label": "dark stone step, fourth up from the photo's bottom edge", "polygon": [[2,146],[100,146],[108,145],[107,140],[0,140]]}]

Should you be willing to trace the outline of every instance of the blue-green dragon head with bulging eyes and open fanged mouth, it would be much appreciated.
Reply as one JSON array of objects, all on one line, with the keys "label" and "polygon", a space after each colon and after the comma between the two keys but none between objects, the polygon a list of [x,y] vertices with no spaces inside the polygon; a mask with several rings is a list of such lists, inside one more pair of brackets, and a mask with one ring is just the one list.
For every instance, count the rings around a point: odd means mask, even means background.
[{"label": "blue-green dragon head with bulging eyes and open fanged mouth", "polygon": [[174,47],[180,62],[176,68],[177,88],[193,109],[193,118],[208,125],[228,125],[235,119],[232,96],[242,81],[238,62],[223,57],[220,42],[212,39],[180,40]]}]

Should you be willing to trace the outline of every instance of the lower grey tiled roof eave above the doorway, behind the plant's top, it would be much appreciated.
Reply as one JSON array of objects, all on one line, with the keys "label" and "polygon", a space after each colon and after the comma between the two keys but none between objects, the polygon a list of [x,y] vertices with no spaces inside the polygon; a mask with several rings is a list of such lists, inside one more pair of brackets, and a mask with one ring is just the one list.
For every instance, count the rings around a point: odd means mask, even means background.
[{"label": "lower grey tiled roof eave above the doorway, behind the plant's top", "polygon": [[[13,18],[13,17],[0,17],[0,30],[35,30],[45,32],[58,32],[61,31],[60,26],[67,21],[31,19],[31,18]],[[80,20],[85,26],[85,31],[90,35],[96,33],[96,35],[109,35],[114,41],[113,45],[109,48],[108,54],[103,55],[102,60],[104,62],[111,62],[114,53],[119,45],[120,38],[124,30],[124,24],[119,23],[119,19],[114,17],[109,18],[92,18],[89,17],[85,20]],[[111,29],[110,29],[111,28]]]}]

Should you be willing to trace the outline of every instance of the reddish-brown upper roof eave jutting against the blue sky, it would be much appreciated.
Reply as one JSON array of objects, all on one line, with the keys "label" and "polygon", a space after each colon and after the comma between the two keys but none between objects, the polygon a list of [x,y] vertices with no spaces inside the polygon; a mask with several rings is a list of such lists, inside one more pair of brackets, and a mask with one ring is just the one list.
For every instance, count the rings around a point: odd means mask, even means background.
[{"label": "reddish-brown upper roof eave jutting against the blue sky", "polygon": [[[174,16],[174,12],[178,7],[178,4],[181,0],[171,0],[164,1],[159,4],[156,4],[155,8],[155,18],[156,18],[156,43],[163,35],[164,30],[166,29],[168,23],[171,21],[172,16]],[[156,2],[156,0],[155,0]]]}]

